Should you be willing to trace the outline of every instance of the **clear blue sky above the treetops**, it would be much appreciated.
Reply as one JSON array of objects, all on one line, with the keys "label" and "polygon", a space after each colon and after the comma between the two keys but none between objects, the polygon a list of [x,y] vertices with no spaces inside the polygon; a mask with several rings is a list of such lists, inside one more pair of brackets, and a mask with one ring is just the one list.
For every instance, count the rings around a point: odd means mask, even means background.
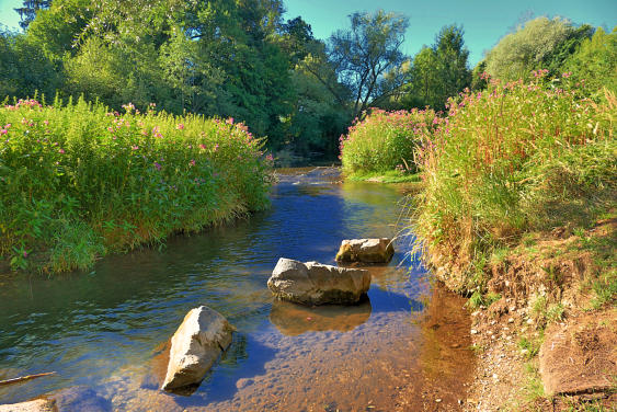
[{"label": "clear blue sky above the treetops", "polygon": [[[14,8],[22,0],[0,0],[0,24],[19,28]],[[485,50],[529,16],[562,16],[574,23],[590,23],[613,30],[617,25],[617,0],[284,0],[285,19],[297,15],[312,26],[316,37],[327,39],[332,32],[349,27],[347,15],[355,11],[384,9],[409,18],[403,52],[414,55],[422,45],[431,45],[446,24],[461,24],[475,66]]]}]

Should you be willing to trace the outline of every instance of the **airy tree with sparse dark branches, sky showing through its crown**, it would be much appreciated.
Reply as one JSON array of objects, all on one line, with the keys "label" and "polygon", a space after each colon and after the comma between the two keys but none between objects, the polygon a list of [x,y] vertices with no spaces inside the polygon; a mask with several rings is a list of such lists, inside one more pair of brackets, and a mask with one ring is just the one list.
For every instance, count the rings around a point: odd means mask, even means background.
[{"label": "airy tree with sparse dark branches, sky showing through its crown", "polygon": [[409,20],[384,11],[354,13],[350,20],[351,30],[330,37],[328,55],[339,81],[352,92],[352,113],[357,116],[402,84],[401,79],[387,81],[385,76],[407,59],[400,47]]}]

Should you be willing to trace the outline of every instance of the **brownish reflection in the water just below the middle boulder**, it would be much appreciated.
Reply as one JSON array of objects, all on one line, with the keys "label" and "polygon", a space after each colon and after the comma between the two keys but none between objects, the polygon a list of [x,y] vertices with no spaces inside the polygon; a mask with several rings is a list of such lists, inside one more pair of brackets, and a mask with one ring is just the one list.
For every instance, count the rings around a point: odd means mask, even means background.
[{"label": "brownish reflection in the water just below the middle boulder", "polygon": [[368,298],[359,305],[318,307],[276,300],[272,304],[270,321],[287,336],[296,336],[306,332],[347,332],[366,322],[372,309]]}]

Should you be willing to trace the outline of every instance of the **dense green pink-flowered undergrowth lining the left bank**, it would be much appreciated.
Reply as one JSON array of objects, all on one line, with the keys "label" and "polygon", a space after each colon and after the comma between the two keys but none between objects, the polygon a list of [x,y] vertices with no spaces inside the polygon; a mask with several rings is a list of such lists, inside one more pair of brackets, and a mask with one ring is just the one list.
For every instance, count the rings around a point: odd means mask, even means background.
[{"label": "dense green pink-flowered undergrowth lining the left bank", "polygon": [[0,107],[0,263],[83,268],[267,206],[271,162],[244,125],[124,107]]}]

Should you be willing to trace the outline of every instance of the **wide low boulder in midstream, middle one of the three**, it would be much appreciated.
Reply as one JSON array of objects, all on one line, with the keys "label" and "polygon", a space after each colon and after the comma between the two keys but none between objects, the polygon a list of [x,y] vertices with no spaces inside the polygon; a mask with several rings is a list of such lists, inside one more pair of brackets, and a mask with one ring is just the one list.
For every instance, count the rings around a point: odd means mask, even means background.
[{"label": "wide low boulder in midstream, middle one of the three", "polygon": [[368,291],[370,273],[281,258],[267,287],[277,298],[295,304],[354,305]]}]

